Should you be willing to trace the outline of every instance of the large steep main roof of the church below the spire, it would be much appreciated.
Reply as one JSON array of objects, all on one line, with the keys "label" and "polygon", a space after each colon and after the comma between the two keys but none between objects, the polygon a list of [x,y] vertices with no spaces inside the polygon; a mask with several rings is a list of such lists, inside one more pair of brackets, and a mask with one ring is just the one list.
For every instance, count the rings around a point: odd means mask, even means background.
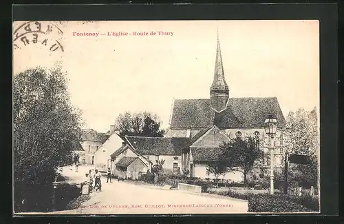
[{"label": "large steep main roof of the church below the spire", "polygon": [[276,97],[230,98],[219,113],[211,109],[210,99],[175,99],[171,129],[262,128],[268,114],[277,117],[279,128],[286,124]]}]

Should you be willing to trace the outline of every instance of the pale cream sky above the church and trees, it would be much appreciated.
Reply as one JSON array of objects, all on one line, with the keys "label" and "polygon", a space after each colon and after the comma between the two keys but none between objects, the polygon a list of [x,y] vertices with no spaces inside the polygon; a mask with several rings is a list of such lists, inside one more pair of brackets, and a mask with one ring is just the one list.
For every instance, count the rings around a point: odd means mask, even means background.
[{"label": "pale cream sky above the church and trees", "polygon": [[[16,30],[24,22],[15,22]],[[106,132],[120,113],[158,114],[169,126],[173,99],[209,99],[217,31],[230,97],[276,96],[284,116],[319,108],[319,21],[42,21],[63,34],[13,50],[14,75],[61,61],[72,104],[87,128]],[[55,26],[53,26],[55,28]],[[21,28],[23,29],[23,28]],[[55,29],[56,30],[56,29]],[[173,32],[159,35],[158,32]],[[77,33],[99,33],[78,36]],[[107,32],[128,32],[107,36]],[[133,32],[155,32],[136,36]],[[102,35],[105,34],[105,35]],[[57,40],[51,52],[42,40]],[[20,45],[18,43],[18,45]],[[50,42],[52,43],[52,42]]]}]

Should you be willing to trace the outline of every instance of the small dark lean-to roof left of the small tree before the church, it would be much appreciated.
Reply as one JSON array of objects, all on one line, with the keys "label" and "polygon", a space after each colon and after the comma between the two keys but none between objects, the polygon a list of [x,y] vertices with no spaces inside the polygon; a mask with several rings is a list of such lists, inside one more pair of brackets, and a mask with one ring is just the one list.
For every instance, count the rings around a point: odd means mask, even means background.
[{"label": "small dark lean-to roof left of the small tree before the church", "polygon": [[219,147],[192,147],[191,154],[194,162],[202,163],[219,160],[222,150]]}]

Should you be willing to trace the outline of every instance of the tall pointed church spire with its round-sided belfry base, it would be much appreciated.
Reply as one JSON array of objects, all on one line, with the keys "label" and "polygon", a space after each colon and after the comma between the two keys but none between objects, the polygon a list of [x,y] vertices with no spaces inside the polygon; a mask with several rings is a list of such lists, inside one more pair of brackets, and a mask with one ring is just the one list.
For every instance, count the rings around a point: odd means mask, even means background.
[{"label": "tall pointed church spire with its round-sided belfry base", "polygon": [[226,109],[228,99],[229,90],[226,79],[224,79],[224,66],[222,65],[221,48],[219,46],[219,33],[217,32],[214,81],[211,85],[211,108],[216,112],[222,112]]}]

